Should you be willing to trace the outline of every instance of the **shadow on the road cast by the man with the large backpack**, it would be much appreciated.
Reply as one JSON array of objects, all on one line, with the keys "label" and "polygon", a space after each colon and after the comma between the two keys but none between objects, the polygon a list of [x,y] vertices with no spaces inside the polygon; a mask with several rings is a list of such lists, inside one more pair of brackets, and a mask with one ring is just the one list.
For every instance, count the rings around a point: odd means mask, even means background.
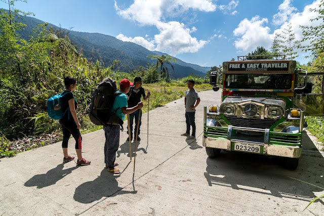
[{"label": "shadow on the road cast by the man with the large backpack", "polygon": [[100,176],[91,182],[85,182],[75,189],[74,200],[80,203],[91,203],[100,200],[102,197],[112,197],[118,192],[121,194],[136,194],[137,191],[124,191],[118,187],[117,178],[107,169],[103,169]]}]

